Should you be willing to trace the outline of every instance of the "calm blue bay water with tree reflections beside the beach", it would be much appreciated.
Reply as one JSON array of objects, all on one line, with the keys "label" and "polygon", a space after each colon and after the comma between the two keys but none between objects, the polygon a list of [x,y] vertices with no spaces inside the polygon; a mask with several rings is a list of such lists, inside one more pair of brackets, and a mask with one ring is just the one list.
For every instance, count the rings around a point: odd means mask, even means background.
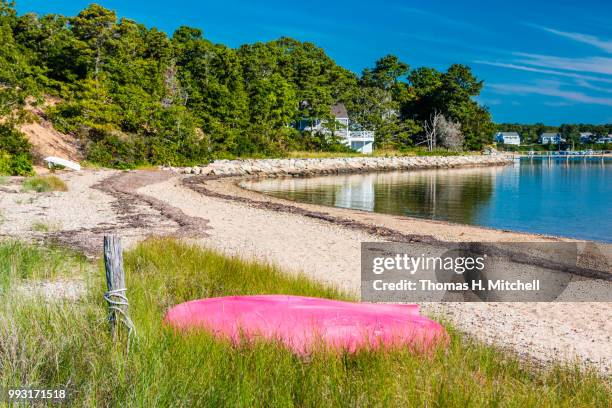
[{"label": "calm blue bay water with tree reflections beside the beach", "polygon": [[314,204],[612,242],[612,159],[306,179],[247,188]]}]

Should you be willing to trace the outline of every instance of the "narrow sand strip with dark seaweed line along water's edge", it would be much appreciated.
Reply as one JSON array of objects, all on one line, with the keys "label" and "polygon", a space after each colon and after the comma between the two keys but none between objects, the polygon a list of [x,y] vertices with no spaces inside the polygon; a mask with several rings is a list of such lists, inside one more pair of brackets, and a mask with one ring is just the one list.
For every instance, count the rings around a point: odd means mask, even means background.
[{"label": "narrow sand strip with dark seaweed line along water's edge", "polygon": [[[209,197],[238,202],[263,210],[313,218],[343,228],[371,234],[390,242],[419,243],[438,247],[454,247],[457,243],[464,242],[483,242],[491,253],[500,253],[499,247],[495,244],[502,242],[518,244],[524,242],[575,242],[579,248],[579,262],[575,266],[553,265],[552,267],[560,268],[560,271],[576,276],[612,281],[612,274],[606,270],[609,267],[608,257],[602,255],[602,252],[603,254],[612,253],[612,244],[605,242],[302,203],[268,196],[242,185],[244,181],[253,179],[254,177],[191,176],[181,179],[181,183],[186,188]],[[256,179],[259,179],[259,177]],[[426,226],[430,227],[429,234],[420,232],[426,230]],[[460,231],[459,235],[456,234],[457,231]],[[478,239],[474,239],[474,237],[478,237]],[[502,252],[505,253],[505,251]],[[516,257],[517,253],[508,253],[508,255]],[[522,258],[522,262],[526,265],[547,266],[542,264],[540,260],[531,257],[525,256]]]}]

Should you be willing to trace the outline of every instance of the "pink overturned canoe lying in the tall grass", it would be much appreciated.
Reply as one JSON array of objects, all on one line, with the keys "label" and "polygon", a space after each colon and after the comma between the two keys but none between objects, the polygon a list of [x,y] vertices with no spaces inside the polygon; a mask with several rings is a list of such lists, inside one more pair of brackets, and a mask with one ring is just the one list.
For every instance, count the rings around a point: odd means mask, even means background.
[{"label": "pink overturned canoe lying in the tall grass", "polygon": [[417,305],[350,303],[300,296],[228,296],[181,303],[164,322],[181,330],[204,329],[238,343],[280,341],[297,354],[323,345],[338,351],[384,347],[426,352],[445,345],[437,322]]}]

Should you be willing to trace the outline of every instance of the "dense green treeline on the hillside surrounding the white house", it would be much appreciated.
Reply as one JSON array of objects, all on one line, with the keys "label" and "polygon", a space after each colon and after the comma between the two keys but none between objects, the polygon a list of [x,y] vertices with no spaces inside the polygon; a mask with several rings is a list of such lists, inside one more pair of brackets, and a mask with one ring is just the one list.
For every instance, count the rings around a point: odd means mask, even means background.
[{"label": "dense green treeline on the hillside surrounding the white house", "polygon": [[[104,165],[340,149],[333,138],[292,126],[329,118],[338,102],[352,126],[375,131],[378,148],[421,143],[434,113],[461,124],[467,149],[489,143],[494,130],[472,99],[483,82],[463,65],[410,69],[389,55],[356,75],[311,43],[281,38],[232,49],[196,28],[169,37],[95,4],[75,17],[19,16],[0,0],[0,41],[2,117],[18,116],[28,96],[54,96],[48,117]],[[28,160],[18,120],[0,130],[0,163]]]}]

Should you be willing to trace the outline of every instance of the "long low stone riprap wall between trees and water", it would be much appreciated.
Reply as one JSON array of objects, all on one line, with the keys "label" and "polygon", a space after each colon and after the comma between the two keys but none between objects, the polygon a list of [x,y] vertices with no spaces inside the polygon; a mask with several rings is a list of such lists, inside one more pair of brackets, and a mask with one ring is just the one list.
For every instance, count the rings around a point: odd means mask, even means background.
[{"label": "long low stone riprap wall between trees and water", "polygon": [[205,166],[162,167],[162,169],[208,176],[298,177],[367,171],[496,166],[510,164],[512,161],[512,157],[502,155],[247,159],[216,160]]}]

